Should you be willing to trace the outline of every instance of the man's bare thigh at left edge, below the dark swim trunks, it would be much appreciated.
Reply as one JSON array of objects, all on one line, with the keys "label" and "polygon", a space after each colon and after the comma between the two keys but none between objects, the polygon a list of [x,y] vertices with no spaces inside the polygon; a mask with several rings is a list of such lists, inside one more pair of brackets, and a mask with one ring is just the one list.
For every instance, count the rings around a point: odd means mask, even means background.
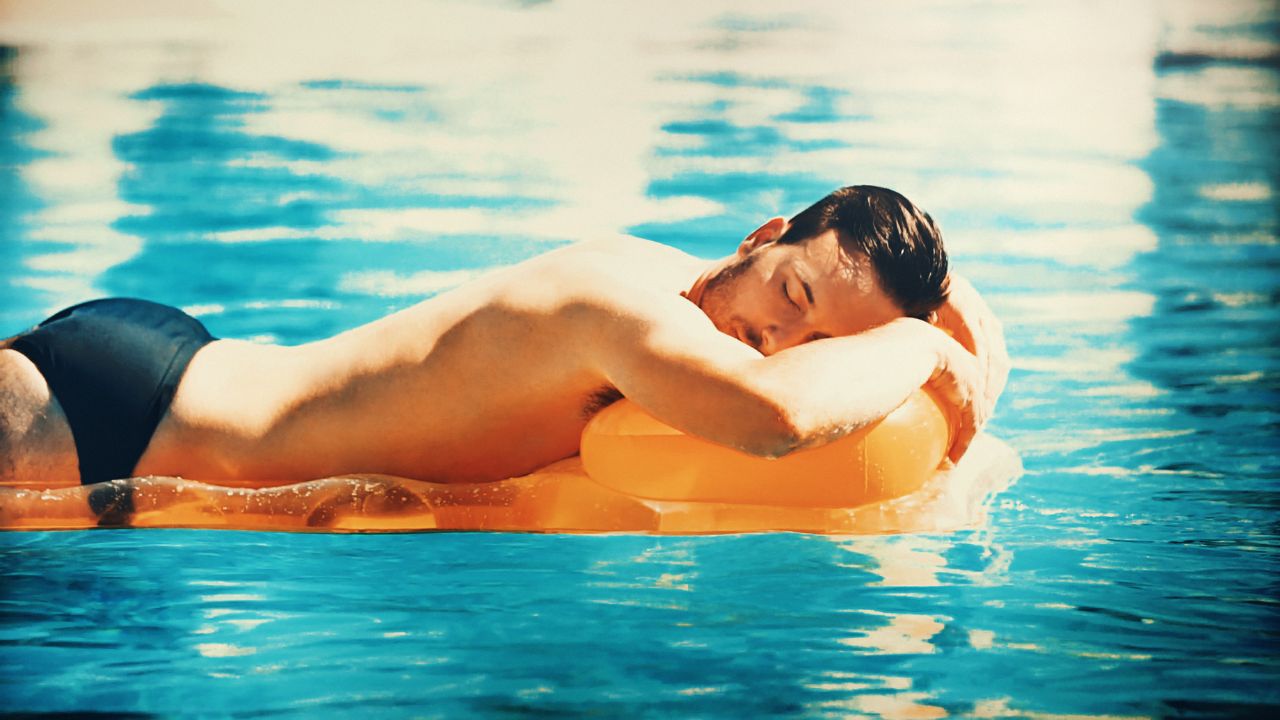
[{"label": "man's bare thigh at left edge, below the dark swim trunks", "polygon": [[58,398],[31,360],[0,350],[0,486],[78,484],[76,439]]}]

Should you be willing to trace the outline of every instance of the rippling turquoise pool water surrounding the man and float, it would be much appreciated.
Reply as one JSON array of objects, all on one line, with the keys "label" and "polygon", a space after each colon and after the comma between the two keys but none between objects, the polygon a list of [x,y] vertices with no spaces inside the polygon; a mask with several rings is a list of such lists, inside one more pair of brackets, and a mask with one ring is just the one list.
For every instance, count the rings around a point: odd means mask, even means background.
[{"label": "rippling turquoise pool water surrounding the man and float", "polygon": [[886,184],[1007,325],[988,520],[0,534],[0,710],[1280,712],[1274,4],[687,5],[0,5],[0,331],[142,295],[302,342]]}]

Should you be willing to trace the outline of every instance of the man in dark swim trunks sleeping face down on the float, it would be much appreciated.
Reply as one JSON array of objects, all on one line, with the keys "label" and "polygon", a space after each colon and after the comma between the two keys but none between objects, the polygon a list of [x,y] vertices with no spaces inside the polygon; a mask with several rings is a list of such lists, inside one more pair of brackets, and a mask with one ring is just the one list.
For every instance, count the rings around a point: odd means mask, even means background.
[{"label": "man in dark swim trunks sleeping face down on the float", "polygon": [[0,483],[46,487],[495,480],[576,454],[620,396],[774,457],[872,423],[924,383],[960,413],[959,459],[1007,373],[998,324],[948,277],[932,218],[870,186],[773,218],[719,261],[584,242],[297,347],[215,340],[128,300],[72,307],[0,347]]}]

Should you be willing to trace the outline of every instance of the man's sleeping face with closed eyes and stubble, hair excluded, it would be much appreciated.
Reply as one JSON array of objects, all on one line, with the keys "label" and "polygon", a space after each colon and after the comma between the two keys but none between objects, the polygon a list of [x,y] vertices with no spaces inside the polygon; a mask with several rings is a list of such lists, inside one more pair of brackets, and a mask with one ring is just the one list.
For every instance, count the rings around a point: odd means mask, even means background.
[{"label": "man's sleeping face with closed eyes and stubble, hair excluded", "polygon": [[703,282],[690,299],[717,329],[763,355],[856,334],[902,316],[881,288],[870,260],[846,254],[836,231],[795,245],[749,237]]}]

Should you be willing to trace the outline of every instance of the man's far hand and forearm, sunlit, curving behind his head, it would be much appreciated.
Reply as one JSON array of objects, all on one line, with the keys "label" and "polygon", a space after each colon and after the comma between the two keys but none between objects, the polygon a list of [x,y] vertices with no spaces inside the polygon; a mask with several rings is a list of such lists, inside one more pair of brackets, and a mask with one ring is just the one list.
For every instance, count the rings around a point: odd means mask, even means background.
[{"label": "man's far hand and forearm, sunlit, curving behind his head", "polygon": [[[964,454],[964,448],[968,447],[969,441],[973,439],[973,434],[982,429],[982,425],[991,418],[996,407],[996,400],[1005,389],[1005,383],[1009,380],[1009,351],[1005,348],[1004,325],[1001,325],[973,284],[955,273],[951,273],[950,282],[951,287],[947,293],[947,301],[938,307],[934,324],[951,333],[973,355],[977,365],[973,372],[975,373],[978,386],[977,395],[970,400],[974,405],[973,415],[975,418],[973,432],[969,433],[968,438],[964,438],[964,447],[960,447],[959,452],[955,446],[952,447],[951,459],[959,460],[960,455]],[[948,356],[947,364],[960,365],[961,361]],[[960,374],[964,375],[968,372],[963,370]],[[937,379],[940,379],[938,374],[934,374],[934,384],[938,384]],[[945,387],[940,387],[938,389],[945,395],[951,395]],[[951,389],[952,393],[961,396],[955,397],[955,400],[965,400],[963,392],[956,388]],[[965,414],[961,410],[961,415]],[[961,423],[963,425],[964,423]]]}]

